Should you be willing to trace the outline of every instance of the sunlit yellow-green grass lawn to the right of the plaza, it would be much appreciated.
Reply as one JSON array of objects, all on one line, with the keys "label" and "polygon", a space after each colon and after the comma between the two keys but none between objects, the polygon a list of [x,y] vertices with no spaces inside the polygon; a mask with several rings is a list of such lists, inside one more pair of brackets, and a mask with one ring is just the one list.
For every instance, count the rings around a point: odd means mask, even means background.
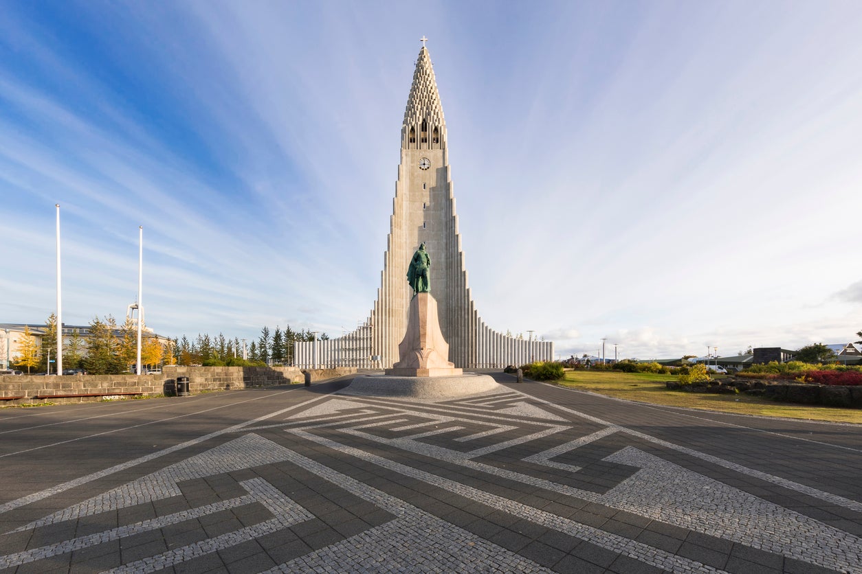
[{"label": "sunlit yellow-green grass lawn to the right of the plaza", "polygon": [[721,410],[738,415],[804,418],[834,423],[862,423],[862,410],[828,406],[776,403],[745,393],[717,395],[700,392],[668,391],[665,381],[676,380],[671,374],[616,373],[614,371],[567,371],[556,382],[581,391],[597,392],[608,397],[625,398],[642,403],[684,406],[690,409]]}]

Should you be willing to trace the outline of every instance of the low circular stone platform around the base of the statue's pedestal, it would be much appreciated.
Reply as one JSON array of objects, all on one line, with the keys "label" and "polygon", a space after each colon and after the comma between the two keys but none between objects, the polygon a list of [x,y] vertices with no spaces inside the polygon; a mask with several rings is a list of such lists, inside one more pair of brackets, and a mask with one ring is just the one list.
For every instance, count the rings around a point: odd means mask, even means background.
[{"label": "low circular stone platform around the base of the statue's pedestal", "polygon": [[353,379],[340,393],[370,397],[450,398],[502,388],[503,386],[486,374],[464,373],[455,377],[366,374]]}]

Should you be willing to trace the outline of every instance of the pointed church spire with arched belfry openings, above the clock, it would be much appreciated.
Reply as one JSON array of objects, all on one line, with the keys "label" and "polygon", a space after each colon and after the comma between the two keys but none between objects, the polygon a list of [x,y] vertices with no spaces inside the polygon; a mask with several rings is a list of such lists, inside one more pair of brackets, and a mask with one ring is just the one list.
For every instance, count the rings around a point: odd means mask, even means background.
[{"label": "pointed church spire with arched belfry openings, above the clock", "polygon": [[402,147],[405,149],[440,150],[446,147],[446,120],[440,106],[434,67],[422,37],[422,49],[416,59],[413,85],[407,97],[402,126]]}]

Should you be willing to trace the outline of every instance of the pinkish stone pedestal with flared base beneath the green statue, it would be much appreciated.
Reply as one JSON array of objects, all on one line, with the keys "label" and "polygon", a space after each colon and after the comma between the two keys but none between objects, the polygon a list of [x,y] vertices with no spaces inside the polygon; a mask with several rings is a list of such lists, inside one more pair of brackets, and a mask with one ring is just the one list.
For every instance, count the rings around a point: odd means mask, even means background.
[{"label": "pinkish stone pedestal with flared base beneath the green statue", "polygon": [[440,331],[437,301],[430,293],[417,293],[410,300],[407,332],[398,344],[401,359],[387,375],[398,377],[452,377],[463,372],[449,361],[449,343]]}]

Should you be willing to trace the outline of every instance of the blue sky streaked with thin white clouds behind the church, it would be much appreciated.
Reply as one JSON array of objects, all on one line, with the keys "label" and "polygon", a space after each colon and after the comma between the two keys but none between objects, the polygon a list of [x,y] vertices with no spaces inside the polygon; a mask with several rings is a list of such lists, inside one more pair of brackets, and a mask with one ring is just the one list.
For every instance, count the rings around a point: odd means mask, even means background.
[{"label": "blue sky streaked with thin white clouds behind the church", "polygon": [[[862,329],[854,2],[6,2],[0,322],[350,330],[422,35],[472,294],[558,354]],[[613,348],[608,347],[609,356]]]}]

